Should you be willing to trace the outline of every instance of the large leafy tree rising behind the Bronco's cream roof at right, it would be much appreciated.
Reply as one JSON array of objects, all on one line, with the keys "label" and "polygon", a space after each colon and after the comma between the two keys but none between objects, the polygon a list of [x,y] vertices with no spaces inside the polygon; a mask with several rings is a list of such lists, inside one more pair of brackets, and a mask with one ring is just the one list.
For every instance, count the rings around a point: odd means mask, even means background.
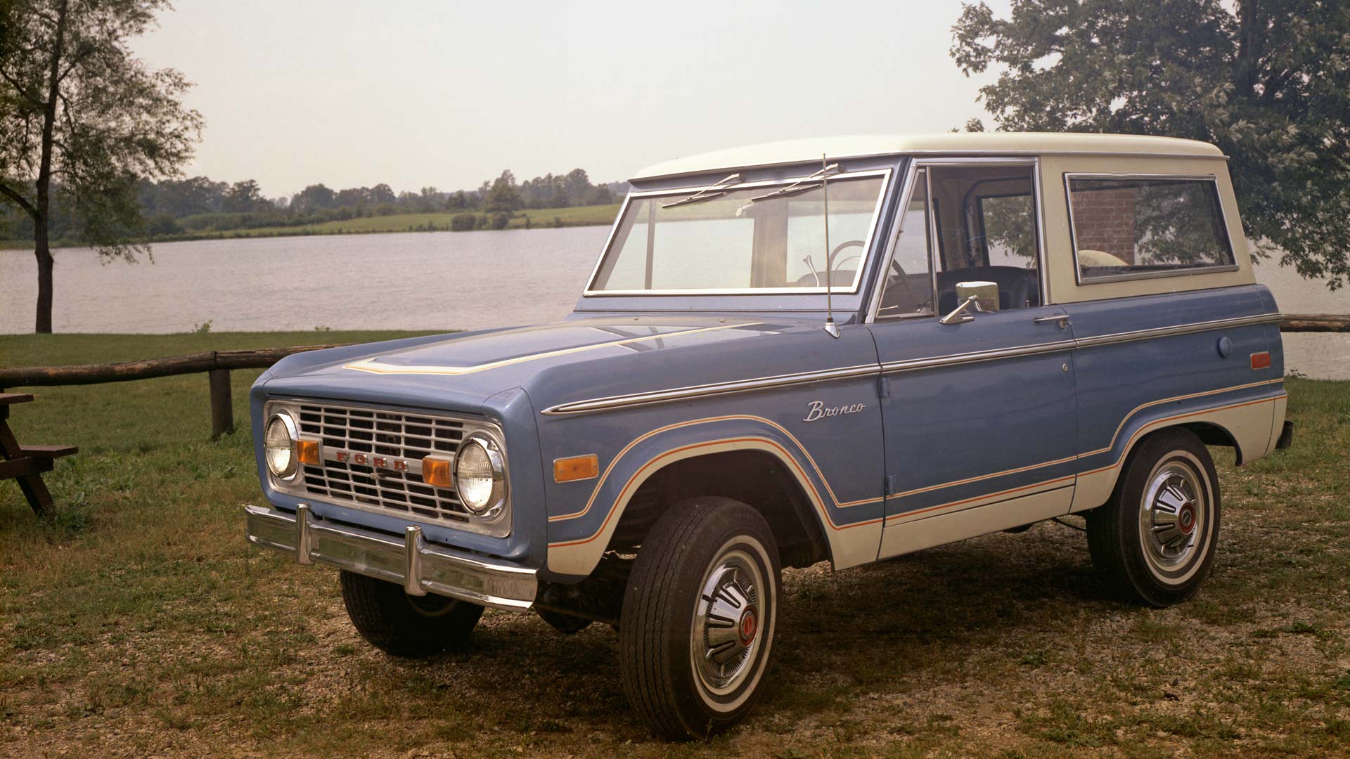
[{"label": "large leafy tree rising behind the Bronco's cream roof at right", "polygon": [[1007,19],[967,4],[950,53],[967,76],[1002,69],[980,88],[999,128],[1218,145],[1258,251],[1350,282],[1350,4],[1013,0]]}]

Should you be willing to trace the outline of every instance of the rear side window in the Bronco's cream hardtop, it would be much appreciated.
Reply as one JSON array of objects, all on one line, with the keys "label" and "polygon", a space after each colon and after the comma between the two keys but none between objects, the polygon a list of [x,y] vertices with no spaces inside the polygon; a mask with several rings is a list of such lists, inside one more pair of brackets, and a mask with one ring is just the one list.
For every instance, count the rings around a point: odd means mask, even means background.
[{"label": "rear side window in the Bronco's cream hardtop", "polygon": [[1233,267],[1212,178],[1066,177],[1079,281]]}]

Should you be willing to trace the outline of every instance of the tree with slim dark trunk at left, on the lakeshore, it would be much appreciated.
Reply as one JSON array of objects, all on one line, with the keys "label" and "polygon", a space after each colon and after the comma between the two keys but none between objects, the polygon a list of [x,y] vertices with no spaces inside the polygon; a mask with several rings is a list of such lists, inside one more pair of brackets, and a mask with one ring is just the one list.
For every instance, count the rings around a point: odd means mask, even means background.
[{"label": "tree with slim dark trunk at left, on the lakeshore", "polygon": [[51,331],[53,197],[105,258],[147,250],[138,177],[177,176],[201,132],[189,82],[151,70],[127,41],[165,0],[0,0],[0,200],[34,226],[35,330]]}]

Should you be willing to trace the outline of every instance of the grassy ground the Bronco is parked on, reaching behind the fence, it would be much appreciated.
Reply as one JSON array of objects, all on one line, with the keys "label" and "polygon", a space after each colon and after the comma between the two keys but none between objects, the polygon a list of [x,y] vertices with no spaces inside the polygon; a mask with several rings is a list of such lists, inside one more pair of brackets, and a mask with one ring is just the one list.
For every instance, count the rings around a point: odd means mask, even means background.
[{"label": "grassy ground the Bronco is parked on, reaching behind the fence", "polygon": [[[374,334],[0,336],[0,362],[348,342]],[[0,483],[0,755],[1345,756],[1350,382],[1291,380],[1292,450],[1231,466],[1214,575],[1166,610],[1099,589],[1041,524],[784,577],[765,698],[707,744],[653,741],[616,636],[489,612],[475,650],[392,660],[336,573],[248,548],[240,432],[209,442],[204,375],[36,389],[20,440],[76,443],[39,523]]]}]

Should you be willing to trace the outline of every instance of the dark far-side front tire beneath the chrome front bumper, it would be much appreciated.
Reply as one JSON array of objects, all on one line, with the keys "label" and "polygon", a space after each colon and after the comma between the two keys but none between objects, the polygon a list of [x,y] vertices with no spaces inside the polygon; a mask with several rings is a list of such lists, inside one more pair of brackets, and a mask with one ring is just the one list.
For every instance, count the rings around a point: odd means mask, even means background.
[{"label": "dark far-side front tire beneath the chrome front bumper", "polygon": [[468,644],[483,608],[343,570],[342,600],[356,632],[392,656],[420,659]]}]

